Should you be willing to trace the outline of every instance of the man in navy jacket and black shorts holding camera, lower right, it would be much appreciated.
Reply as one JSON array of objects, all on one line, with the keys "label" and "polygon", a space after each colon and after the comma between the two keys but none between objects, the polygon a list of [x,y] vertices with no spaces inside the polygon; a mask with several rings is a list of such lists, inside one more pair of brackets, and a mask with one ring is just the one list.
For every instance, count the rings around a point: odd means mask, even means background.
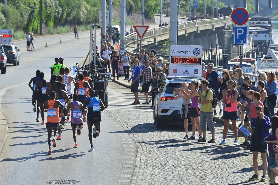
[{"label": "man in navy jacket and black shorts holding camera, lower right", "polygon": [[[256,92],[255,92],[256,93]],[[256,100],[255,100],[256,101]],[[251,107],[252,109],[252,107]],[[267,158],[266,158],[266,148],[267,145],[262,145],[264,142],[264,138],[269,134],[270,128],[270,120],[269,117],[265,116],[263,113],[262,106],[256,106],[255,114],[258,115],[254,118],[253,126],[251,130],[252,134],[252,145],[250,151],[253,154],[253,168],[254,168],[254,175],[249,178],[249,180],[259,180],[258,175],[258,153],[261,153],[262,161],[263,161],[263,176],[261,178],[261,182],[266,181],[266,170],[267,170]]]}]

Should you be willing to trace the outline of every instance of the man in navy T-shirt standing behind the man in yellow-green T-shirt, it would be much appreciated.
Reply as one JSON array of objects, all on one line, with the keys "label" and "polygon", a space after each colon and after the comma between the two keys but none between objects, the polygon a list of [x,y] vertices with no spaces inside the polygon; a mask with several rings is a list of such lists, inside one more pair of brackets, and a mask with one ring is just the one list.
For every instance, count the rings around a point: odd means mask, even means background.
[{"label": "man in navy T-shirt standing behind the man in yellow-green T-shirt", "polygon": [[[222,115],[222,102],[219,98],[219,90],[218,90],[218,84],[220,82],[220,77],[218,75],[218,73],[216,71],[213,70],[213,66],[208,64],[207,65],[207,70],[208,70],[208,73],[207,73],[207,78],[208,78],[208,88],[211,88],[215,91],[215,95],[217,97],[217,100],[218,100],[218,106],[219,106],[219,115]],[[214,108],[214,114],[217,114],[216,113],[216,108]]]}]

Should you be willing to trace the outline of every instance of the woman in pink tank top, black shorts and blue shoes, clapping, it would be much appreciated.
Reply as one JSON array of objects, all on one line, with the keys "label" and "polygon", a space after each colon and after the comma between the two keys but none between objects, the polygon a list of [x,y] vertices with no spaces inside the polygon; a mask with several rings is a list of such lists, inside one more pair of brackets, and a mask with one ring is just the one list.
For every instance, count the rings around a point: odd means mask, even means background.
[{"label": "woman in pink tank top, black shorts and blue shoes, clapping", "polygon": [[225,104],[225,111],[223,114],[223,118],[224,118],[223,141],[220,143],[220,145],[226,144],[226,137],[228,134],[228,126],[229,126],[230,119],[232,121],[234,137],[235,137],[234,145],[238,145],[237,127],[236,127],[236,118],[237,118],[236,100],[238,97],[238,91],[236,90],[236,81],[229,80],[227,82],[227,87],[229,91],[225,89],[222,90],[223,103]]}]

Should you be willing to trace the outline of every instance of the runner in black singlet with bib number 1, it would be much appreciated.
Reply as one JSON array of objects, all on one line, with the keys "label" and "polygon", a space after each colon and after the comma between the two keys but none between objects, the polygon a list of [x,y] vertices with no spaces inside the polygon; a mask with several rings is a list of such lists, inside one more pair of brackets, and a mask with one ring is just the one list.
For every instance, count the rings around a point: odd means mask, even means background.
[{"label": "runner in black singlet with bib number 1", "polygon": [[35,91],[38,92],[38,103],[39,103],[40,109],[42,110],[41,111],[41,117],[42,117],[41,125],[45,125],[43,104],[44,104],[45,101],[49,100],[49,96],[46,93],[46,91],[48,90],[47,89],[47,84],[49,82],[47,80],[44,80],[44,73],[43,72],[40,72],[39,77],[40,77],[40,81],[38,81],[36,83]]}]

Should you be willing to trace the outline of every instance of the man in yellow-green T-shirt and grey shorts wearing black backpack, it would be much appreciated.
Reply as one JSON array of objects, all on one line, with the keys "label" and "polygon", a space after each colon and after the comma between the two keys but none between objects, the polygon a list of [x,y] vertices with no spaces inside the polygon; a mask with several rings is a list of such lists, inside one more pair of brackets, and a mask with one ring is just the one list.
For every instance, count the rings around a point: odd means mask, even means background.
[{"label": "man in yellow-green T-shirt and grey shorts wearing black backpack", "polygon": [[[213,104],[215,105],[215,100],[213,96],[215,96],[213,90],[208,89],[208,80],[201,80],[201,88],[203,89],[201,92],[199,91],[199,103],[202,105],[200,109],[200,126],[203,132],[203,138],[198,139],[198,142],[206,142],[206,131],[207,124],[208,128],[211,131],[212,138],[208,141],[208,143],[215,143],[215,128],[213,123]],[[213,95],[214,94],[214,95]],[[214,103],[212,103],[214,102]]]}]

